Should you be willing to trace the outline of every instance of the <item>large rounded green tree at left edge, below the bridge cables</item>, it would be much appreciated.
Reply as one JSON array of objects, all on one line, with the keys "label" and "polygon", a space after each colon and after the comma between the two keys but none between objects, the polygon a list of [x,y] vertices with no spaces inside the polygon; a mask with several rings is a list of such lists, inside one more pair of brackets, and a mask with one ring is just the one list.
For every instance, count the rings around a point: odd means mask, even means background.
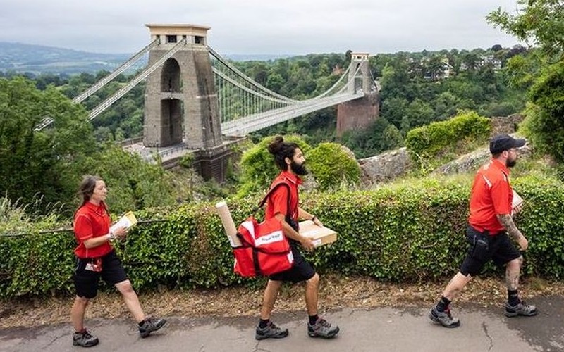
[{"label": "large rounded green tree at left edge, below the bridge cables", "polygon": [[[45,117],[52,127],[35,131]],[[80,162],[95,150],[82,106],[54,87],[44,92],[23,77],[0,79],[0,192],[15,201],[71,199]]]}]

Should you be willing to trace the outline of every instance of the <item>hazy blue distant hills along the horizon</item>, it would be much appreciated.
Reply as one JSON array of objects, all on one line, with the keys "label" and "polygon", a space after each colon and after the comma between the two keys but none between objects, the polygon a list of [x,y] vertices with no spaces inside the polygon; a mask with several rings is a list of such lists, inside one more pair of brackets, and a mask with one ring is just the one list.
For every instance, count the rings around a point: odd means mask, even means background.
[{"label": "hazy blue distant hills along the horizon", "polygon": [[[53,46],[0,42],[0,71],[18,73],[97,73],[112,71],[133,54],[99,54]],[[291,55],[233,54],[225,55],[233,61],[269,61]],[[137,61],[130,70],[147,65],[147,57]]]}]

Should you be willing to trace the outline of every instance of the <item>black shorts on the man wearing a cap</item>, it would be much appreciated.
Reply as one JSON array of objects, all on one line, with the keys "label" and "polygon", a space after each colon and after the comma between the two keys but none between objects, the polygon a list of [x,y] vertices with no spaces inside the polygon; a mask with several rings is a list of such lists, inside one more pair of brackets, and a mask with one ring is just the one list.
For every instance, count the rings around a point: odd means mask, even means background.
[{"label": "black shorts on the man wearing a cap", "polygon": [[484,264],[490,259],[496,265],[501,266],[521,256],[521,253],[515,249],[506,232],[500,232],[492,236],[468,226],[466,229],[466,239],[470,244],[470,248],[464,262],[460,265],[462,275],[478,275],[482,271]]}]

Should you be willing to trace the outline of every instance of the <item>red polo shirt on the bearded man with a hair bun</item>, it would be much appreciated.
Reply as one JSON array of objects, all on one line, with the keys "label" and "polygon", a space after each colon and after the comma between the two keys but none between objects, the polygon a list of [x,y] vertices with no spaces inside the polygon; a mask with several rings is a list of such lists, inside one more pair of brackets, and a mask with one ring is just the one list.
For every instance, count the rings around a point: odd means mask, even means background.
[{"label": "red polo shirt on the bearded man with a hair bun", "polygon": [[[298,186],[302,184],[302,179],[292,172],[283,171],[271,184],[271,187],[279,182],[286,182],[290,185],[290,217],[298,220]],[[266,220],[274,218],[274,215],[281,213],[288,214],[288,187],[280,186],[270,194],[266,201]]]}]

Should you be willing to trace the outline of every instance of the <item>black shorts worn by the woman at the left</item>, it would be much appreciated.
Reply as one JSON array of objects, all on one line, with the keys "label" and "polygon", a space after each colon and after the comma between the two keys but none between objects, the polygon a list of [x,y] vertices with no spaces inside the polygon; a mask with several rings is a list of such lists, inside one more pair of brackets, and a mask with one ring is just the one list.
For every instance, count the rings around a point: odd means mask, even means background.
[{"label": "black shorts worn by the woman at the left", "polygon": [[76,295],[85,298],[94,298],[98,293],[98,282],[100,277],[104,279],[107,284],[115,285],[128,279],[125,274],[121,260],[119,260],[115,251],[103,256],[102,271],[96,272],[87,270],[92,267],[97,258],[77,258],[76,268],[73,274],[73,281],[75,282]]}]

